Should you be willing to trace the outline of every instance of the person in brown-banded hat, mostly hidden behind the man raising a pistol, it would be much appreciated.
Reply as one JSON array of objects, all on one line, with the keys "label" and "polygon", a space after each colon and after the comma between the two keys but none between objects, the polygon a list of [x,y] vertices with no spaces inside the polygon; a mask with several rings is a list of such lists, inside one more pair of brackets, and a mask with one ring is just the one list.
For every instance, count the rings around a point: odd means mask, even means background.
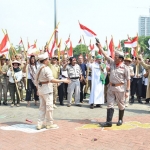
[{"label": "person in brown-banded hat, mostly hidden behind the man raising a pistol", "polygon": [[[131,66],[131,62],[132,62],[132,59],[131,58],[128,58],[126,57],[124,59],[124,63],[125,65],[127,65],[129,67],[129,71],[130,71],[130,77],[133,77],[134,76],[134,70],[133,70],[133,67]],[[130,93],[130,92],[129,92]],[[130,95],[130,94],[129,94]],[[129,104],[129,98],[130,96],[128,96],[126,99],[125,99],[125,103],[126,103],[126,107],[128,107],[128,104]]]}]

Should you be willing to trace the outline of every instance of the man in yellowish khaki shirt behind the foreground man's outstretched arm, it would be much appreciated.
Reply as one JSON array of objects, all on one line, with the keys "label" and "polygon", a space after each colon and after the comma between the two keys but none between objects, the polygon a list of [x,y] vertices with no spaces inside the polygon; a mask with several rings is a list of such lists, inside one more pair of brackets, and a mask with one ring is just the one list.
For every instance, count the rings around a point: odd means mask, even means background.
[{"label": "man in yellowish khaki shirt behind the foreground man's outstretched arm", "polygon": [[[60,67],[57,64],[58,58],[53,57],[51,60],[51,63],[49,64],[50,69],[52,70],[53,77],[55,79],[59,79],[60,76]],[[56,106],[56,101],[57,101],[57,96],[58,96],[58,84],[53,83],[53,101],[54,101],[54,108],[57,108]]]}]

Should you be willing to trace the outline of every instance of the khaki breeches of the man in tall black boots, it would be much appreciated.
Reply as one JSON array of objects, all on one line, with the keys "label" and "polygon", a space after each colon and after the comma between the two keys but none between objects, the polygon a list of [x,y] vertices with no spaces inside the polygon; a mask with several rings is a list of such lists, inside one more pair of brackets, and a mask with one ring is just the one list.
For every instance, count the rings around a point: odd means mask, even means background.
[{"label": "khaki breeches of the man in tall black boots", "polygon": [[116,92],[110,90],[108,88],[107,90],[107,108],[113,108],[115,101],[118,104],[118,107],[120,110],[125,109],[125,92]]}]

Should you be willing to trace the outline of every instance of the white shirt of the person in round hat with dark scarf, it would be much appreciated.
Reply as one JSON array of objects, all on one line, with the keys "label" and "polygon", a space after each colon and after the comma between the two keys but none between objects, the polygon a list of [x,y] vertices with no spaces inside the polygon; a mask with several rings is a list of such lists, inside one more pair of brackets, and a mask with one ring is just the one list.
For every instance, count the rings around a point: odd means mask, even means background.
[{"label": "white shirt of the person in round hat with dark scarf", "polygon": [[[14,82],[14,79],[13,79],[13,77],[12,77],[12,72],[10,71],[10,69],[8,70],[8,72],[7,72],[7,76],[9,77],[9,82],[10,83],[15,83]],[[19,72],[15,72],[14,73],[14,76],[15,76],[15,79],[17,80],[17,81],[21,81],[21,79],[22,79],[22,71],[19,71]]]}]

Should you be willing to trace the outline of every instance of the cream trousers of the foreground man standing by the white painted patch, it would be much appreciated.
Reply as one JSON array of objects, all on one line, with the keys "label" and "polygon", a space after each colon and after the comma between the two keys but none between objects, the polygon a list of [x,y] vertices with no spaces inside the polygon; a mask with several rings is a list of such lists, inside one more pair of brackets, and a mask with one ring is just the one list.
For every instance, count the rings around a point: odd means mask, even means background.
[{"label": "cream trousers of the foreground man standing by the white painted patch", "polygon": [[39,96],[40,108],[38,125],[41,126],[46,119],[46,125],[53,124],[53,93]]}]

